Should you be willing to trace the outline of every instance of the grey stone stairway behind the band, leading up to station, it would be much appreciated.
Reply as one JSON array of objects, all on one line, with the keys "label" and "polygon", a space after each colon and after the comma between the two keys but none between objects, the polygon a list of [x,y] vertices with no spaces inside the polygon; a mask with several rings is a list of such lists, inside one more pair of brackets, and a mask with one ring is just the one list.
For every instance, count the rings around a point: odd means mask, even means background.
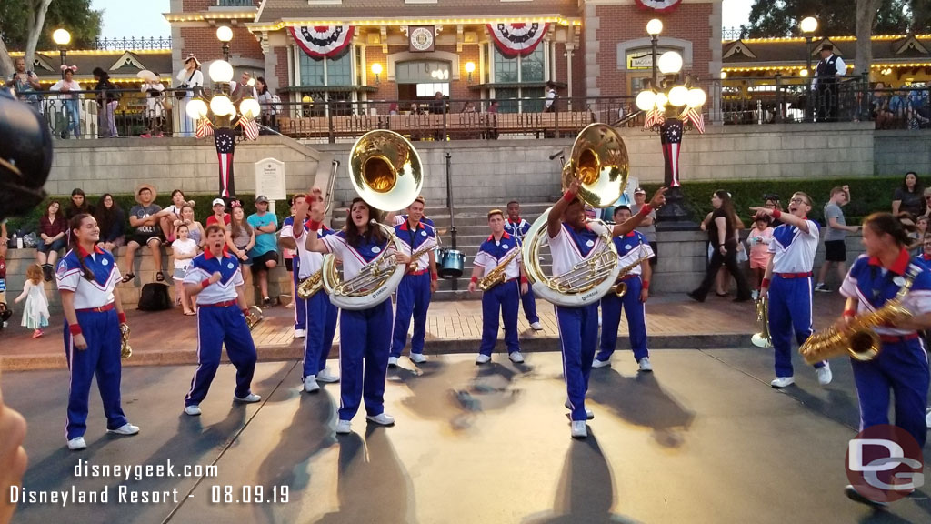
[{"label": "grey stone stairway behind the band, leading up to station", "polygon": [[[551,205],[553,204],[550,202],[521,203],[521,216],[533,224],[533,220],[546,211]],[[345,209],[346,207],[347,205],[343,205],[334,207],[334,209]],[[454,210],[456,216],[456,249],[466,255],[463,276],[455,281],[440,279],[439,290],[433,296],[434,300],[456,300],[479,298],[481,296],[480,293],[469,295],[467,288],[469,278],[472,275],[472,261],[475,260],[475,255],[479,252],[479,245],[491,234],[488,228],[488,212],[491,209],[492,207],[485,205],[456,206]],[[504,205],[502,205],[501,210],[505,212],[505,216],[507,216]],[[452,247],[449,211],[445,208],[441,208],[436,210],[436,213],[432,213],[427,209],[426,215],[433,220],[438,231],[441,231],[439,235],[440,244],[443,247]],[[344,223],[345,213],[337,213],[333,216],[333,228],[343,228]],[[541,263],[543,267],[548,270],[550,257],[548,250],[545,251],[544,255],[541,256]],[[439,264],[439,260],[437,262]],[[455,283],[457,287],[455,290],[453,289],[453,283]]]}]

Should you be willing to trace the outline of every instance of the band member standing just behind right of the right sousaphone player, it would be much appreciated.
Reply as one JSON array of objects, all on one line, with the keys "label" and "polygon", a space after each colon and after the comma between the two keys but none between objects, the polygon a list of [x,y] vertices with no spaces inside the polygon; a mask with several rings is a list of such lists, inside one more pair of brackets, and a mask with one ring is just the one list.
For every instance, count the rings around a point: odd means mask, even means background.
[{"label": "band member standing just behind right of the right sousaphone player", "polygon": [[[626,205],[614,208],[614,223],[623,224],[630,218],[630,208]],[[619,256],[618,264],[626,268],[638,259],[646,257],[640,264],[630,270],[620,281],[627,285],[627,293],[617,296],[609,292],[601,297],[601,351],[595,355],[592,367],[611,365],[611,355],[617,347],[617,327],[621,324],[621,310],[627,317],[627,333],[630,335],[630,348],[634,361],[641,371],[653,371],[650,365],[650,352],[646,349],[646,300],[650,296],[650,276],[653,267],[653,248],[646,236],[633,230],[622,237],[614,237],[614,247]]]}]

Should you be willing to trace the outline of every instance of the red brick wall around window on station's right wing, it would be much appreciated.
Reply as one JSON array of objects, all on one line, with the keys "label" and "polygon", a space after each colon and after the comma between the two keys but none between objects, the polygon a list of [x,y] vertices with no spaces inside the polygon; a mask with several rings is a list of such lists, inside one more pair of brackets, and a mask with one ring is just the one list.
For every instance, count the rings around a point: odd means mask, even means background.
[{"label": "red brick wall around window on station's right wing", "polygon": [[[598,6],[597,16],[600,28],[596,36],[601,48],[598,62],[601,74],[598,88],[602,96],[631,94],[627,93],[627,75],[617,66],[617,44],[627,40],[648,37],[646,24],[659,18],[663,21],[663,33],[660,37],[680,38],[692,42],[693,62],[691,68],[683,66],[682,74],[708,78],[708,62],[711,61],[711,27],[708,17],[711,4],[681,4],[668,15],[656,16],[654,11],[646,11],[636,6]],[[683,59],[685,57],[682,57]]]}]

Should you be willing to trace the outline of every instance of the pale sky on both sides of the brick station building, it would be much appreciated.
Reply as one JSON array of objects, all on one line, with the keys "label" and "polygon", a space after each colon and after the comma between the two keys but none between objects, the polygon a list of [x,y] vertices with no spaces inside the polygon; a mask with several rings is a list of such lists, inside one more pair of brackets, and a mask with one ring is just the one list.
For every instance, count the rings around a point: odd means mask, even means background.
[{"label": "pale sky on both sides of the brick station building", "polygon": [[[723,0],[724,29],[747,23],[752,0]],[[92,0],[103,9],[102,34],[106,38],[124,36],[170,36],[171,28],[162,13],[169,11],[169,0]]]}]

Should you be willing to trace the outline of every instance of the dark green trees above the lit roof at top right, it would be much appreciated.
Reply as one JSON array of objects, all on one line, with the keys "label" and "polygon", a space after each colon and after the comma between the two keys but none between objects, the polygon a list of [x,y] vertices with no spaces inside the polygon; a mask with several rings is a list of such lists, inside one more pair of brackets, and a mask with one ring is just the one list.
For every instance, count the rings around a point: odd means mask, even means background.
[{"label": "dark green trees above the lit roof at top right", "polygon": [[[927,0],[878,0],[872,2],[876,34],[902,34],[910,25],[910,5],[924,6]],[[860,1],[857,0],[857,6]],[[754,0],[749,25],[741,25],[741,35],[749,37],[801,36],[799,23],[805,17],[818,21],[818,35],[857,34],[857,13],[850,0]]]}]

